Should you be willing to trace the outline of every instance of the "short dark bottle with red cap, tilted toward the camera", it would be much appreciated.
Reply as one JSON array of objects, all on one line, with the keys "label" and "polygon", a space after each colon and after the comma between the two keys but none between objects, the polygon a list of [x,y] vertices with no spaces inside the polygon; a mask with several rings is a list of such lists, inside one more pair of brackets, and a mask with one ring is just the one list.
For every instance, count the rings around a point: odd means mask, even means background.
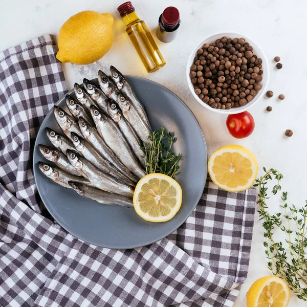
[{"label": "short dark bottle with red cap, tilted toward the camera", "polygon": [[180,26],[180,13],[175,7],[166,8],[159,17],[157,37],[163,42],[172,41]]}]

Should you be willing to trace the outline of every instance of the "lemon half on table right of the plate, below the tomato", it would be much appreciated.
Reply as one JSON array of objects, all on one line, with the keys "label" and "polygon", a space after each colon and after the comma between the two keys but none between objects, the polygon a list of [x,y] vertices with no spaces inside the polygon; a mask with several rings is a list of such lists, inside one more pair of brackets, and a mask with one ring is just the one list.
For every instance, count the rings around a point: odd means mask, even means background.
[{"label": "lemon half on table right of the plate, below the tomato", "polygon": [[215,150],[208,162],[211,180],[221,189],[238,192],[250,188],[258,173],[253,153],[240,145],[227,145]]}]

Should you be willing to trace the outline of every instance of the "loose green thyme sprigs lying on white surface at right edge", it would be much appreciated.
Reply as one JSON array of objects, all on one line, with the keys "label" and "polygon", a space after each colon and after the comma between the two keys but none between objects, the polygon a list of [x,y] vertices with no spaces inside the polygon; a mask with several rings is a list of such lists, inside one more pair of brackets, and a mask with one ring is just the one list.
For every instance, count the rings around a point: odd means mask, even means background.
[{"label": "loose green thyme sprigs lying on white surface at right edge", "polygon": [[[283,212],[271,215],[267,209],[266,200],[268,197],[268,180],[275,177],[277,184],[273,187],[272,193],[275,195],[281,190],[280,180],[282,174],[276,169],[266,170],[264,176],[256,180],[254,186],[259,187],[258,210],[260,220],[265,220],[262,226],[265,228],[266,255],[269,259],[268,267],[277,275],[287,281],[289,288],[297,294],[297,297],[307,301],[307,201],[303,208],[297,209],[294,205],[287,204],[287,192],[282,192],[280,206]],[[286,221],[286,223],[284,222]],[[284,224],[286,226],[284,226]],[[280,229],[286,236],[285,241],[289,247],[284,248],[282,242],[275,242],[273,231]],[[295,229],[295,230],[292,230]]]}]

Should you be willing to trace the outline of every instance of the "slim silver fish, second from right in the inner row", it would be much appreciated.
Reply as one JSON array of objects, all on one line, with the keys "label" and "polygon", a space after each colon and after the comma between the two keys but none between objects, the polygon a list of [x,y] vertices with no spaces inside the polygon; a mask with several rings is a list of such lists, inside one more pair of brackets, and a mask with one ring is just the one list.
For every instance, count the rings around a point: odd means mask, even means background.
[{"label": "slim silver fish, second from right in the inner row", "polygon": [[129,145],[133,149],[136,157],[140,160],[143,166],[145,166],[144,152],[141,149],[142,142],[140,138],[135,133],[133,127],[123,116],[120,107],[116,102],[113,102],[111,99],[107,103],[107,111],[109,116],[118,124],[122,134],[125,136]]}]

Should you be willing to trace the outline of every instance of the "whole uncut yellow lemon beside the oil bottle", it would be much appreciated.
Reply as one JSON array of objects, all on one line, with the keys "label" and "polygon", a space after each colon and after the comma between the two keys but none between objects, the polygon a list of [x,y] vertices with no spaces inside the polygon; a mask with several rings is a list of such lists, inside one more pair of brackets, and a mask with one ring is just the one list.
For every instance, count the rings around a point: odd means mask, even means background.
[{"label": "whole uncut yellow lemon beside the oil bottle", "polygon": [[113,43],[113,16],[83,11],[60,28],[57,59],[62,63],[90,64],[104,56]]}]

